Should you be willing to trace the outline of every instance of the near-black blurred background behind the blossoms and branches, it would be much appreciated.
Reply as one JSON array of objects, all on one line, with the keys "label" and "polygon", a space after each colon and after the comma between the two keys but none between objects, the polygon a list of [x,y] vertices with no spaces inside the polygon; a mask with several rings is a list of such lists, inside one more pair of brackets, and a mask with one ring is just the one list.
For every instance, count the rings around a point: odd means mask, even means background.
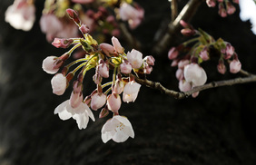
[{"label": "near-black blurred background behind the blossoms and branches", "polygon": [[[145,9],[146,19],[133,34],[144,45],[143,55],[149,55],[153,34],[162,22],[170,21],[170,3],[137,2]],[[98,119],[99,112],[94,112],[96,121],[89,121],[83,131],[74,120],[61,121],[54,115],[54,108],[69,98],[71,89],[55,96],[50,84],[52,75],[44,73],[41,66],[46,56],[58,56],[64,50],[48,44],[40,31],[43,1],[36,1],[37,19],[30,32],[5,23],[5,9],[12,3],[0,2],[1,165],[256,164],[255,83],[211,89],[196,99],[185,100],[143,86],[135,102],[121,107],[120,113],[132,122],[135,132],[134,139],[123,143],[102,142],[101,129],[110,116]],[[229,41],[239,54],[242,68],[256,73],[256,36],[249,22],[241,22],[236,7],[234,15],[222,18],[217,8],[202,3],[192,24],[216,39]],[[184,39],[177,38],[176,44]],[[170,67],[167,52],[152,55],[156,63],[148,79],[177,90],[176,68]],[[237,76],[220,75],[214,62],[204,67],[208,82]],[[84,92],[92,92],[94,83],[90,75],[86,76],[89,81],[84,84]]]}]

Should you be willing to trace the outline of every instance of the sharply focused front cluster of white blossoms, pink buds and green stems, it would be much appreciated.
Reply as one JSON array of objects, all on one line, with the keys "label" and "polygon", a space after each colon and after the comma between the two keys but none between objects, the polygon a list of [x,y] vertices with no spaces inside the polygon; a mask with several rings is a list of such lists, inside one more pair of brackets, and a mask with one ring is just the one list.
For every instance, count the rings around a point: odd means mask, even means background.
[{"label": "sharply focused front cluster of white blossoms, pink buds and green stems", "polygon": [[[77,73],[70,99],[57,106],[54,113],[58,114],[61,120],[73,118],[77,122],[79,129],[85,129],[89,118],[95,121],[91,109],[94,111],[102,109],[99,113],[99,118],[103,118],[109,112],[113,112],[113,118],[103,125],[103,142],[110,139],[116,142],[123,142],[128,137],[133,138],[133,127],[126,117],[119,114],[119,109],[122,99],[123,102],[134,102],[136,100],[141,85],[134,81],[133,73],[151,73],[154,65],[153,56],[143,58],[143,53],[134,49],[131,52],[124,53],[123,46],[114,36],[112,44],[98,44],[88,34],[89,28],[81,22],[77,12],[72,9],[67,9],[66,12],[74,23],[79,26],[79,30],[84,37],[55,38],[53,42],[55,47],[67,48],[72,44],[74,46],[59,57],[48,56],[43,61],[43,70],[46,73],[55,74],[51,80],[54,94],[64,94],[67,86]],[[84,57],[64,65],[71,53],[78,47],[84,49]],[[73,71],[69,72],[70,68],[75,64],[77,66]],[[62,71],[58,73],[61,68]],[[84,97],[84,75],[93,68],[95,68],[93,80],[96,89]],[[110,77],[110,70],[113,70],[112,81],[102,84],[103,78]],[[122,98],[121,94],[123,94]]]}]

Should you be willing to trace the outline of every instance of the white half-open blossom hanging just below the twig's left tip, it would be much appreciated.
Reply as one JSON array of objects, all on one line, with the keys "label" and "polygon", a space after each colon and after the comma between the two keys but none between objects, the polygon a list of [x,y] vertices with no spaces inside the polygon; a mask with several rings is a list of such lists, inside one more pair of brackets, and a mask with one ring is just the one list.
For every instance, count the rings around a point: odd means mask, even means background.
[{"label": "white half-open blossom hanging just below the twig's left tip", "polygon": [[134,102],[138,96],[141,84],[137,82],[128,82],[123,89],[123,102]]}]

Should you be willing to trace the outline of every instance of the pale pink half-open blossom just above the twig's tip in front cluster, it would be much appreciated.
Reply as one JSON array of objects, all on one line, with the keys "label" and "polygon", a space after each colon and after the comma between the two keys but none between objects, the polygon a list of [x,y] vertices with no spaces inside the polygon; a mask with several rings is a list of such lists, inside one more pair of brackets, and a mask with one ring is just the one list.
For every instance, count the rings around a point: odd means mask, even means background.
[{"label": "pale pink half-open blossom just above the twig's tip in front cluster", "polygon": [[127,60],[134,69],[139,69],[143,65],[143,53],[133,49],[131,53],[127,53]]}]

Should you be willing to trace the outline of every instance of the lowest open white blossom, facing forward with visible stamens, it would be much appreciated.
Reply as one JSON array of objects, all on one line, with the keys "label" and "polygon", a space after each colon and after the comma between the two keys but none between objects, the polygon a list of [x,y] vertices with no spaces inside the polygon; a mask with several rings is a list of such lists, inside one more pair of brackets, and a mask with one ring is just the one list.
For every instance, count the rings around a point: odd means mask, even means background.
[{"label": "lowest open white blossom, facing forward with visible stamens", "polygon": [[111,139],[115,142],[123,142],[129,137],[134,138],[133,126],[124,116],[114,115],[103,125],[102,140],[104,143]]}]

